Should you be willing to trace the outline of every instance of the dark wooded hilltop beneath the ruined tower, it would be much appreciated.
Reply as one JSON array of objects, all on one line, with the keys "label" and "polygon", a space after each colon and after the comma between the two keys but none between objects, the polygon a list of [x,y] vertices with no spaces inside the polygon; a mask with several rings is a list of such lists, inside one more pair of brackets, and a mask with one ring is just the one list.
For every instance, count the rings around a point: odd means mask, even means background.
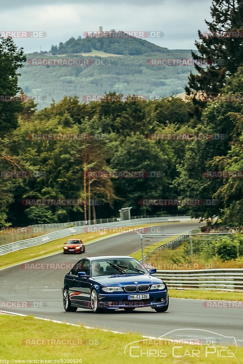
[{"label": "dark wooded hilltop beneath the ruined tower", "polygon": [[[118,34],[125,34],[120,32]],[[92,50],[103,51],[105,53],[119,54],[125,56],[138,56],[148,52],[162,52],[167,48],[156,46],[145,39],[136,37],[86,37],[77,39],[71,37],[65,43],[59,43],[59,46],[52,46],[50,52],[56,54],[91,52]]]}]

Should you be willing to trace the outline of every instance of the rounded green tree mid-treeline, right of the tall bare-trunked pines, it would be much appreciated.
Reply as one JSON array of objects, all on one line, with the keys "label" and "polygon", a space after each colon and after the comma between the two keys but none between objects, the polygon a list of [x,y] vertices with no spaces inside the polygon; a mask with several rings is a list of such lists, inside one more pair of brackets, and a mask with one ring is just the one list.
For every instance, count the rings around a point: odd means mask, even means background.
[{"label": "rounded green tree mid-treeline, right of the tall bare-trunked pines", "polygon": [[[117,171],[160,171],[155,178],[117,178],[114,179],[115,193],[123,199],[119,208],[133,206],[136,213],[144,211],[139,204],[140,199],[168,197],[170,177],[166,174],[169,158],[163,154],[156,142],[144,135],[129,135],[121,140],[110,167]],[[150,208],[147,207],[148,210]]]}]

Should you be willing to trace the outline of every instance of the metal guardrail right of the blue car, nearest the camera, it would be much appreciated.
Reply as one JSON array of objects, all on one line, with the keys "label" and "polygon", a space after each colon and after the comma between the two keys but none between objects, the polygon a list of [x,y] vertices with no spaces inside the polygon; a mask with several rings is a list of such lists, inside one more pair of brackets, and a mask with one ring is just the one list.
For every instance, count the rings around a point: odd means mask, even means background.
[{"label": "metal guardrail right of the blue car, nearest the camera", "polygon": [[243,269],[157,270],[171,289],[243,290]]}]

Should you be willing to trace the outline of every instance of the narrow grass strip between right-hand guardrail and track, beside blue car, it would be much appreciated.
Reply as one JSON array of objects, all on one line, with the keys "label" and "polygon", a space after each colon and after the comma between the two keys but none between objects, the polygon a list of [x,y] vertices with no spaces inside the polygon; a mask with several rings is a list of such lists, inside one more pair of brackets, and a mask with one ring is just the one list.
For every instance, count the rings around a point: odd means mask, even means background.
[{"label": "narrow grass strip between right-hand guardrail and track, beside blue car", "polygon": [[243,292],[226,292],[210,289],[169,289],[169,296],[174,298],[194,298],[198,300],[243,301]]}]

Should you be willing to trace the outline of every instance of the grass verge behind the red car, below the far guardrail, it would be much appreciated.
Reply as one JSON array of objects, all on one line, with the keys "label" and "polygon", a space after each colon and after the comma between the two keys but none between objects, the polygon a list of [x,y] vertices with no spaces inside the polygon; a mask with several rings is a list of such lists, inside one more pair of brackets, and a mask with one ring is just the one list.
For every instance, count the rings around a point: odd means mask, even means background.
[{"label": "grass verge behind the red car, below the far guardrail", "polygon": [[[134,225],[134,226],[129,226],[129,228],[132,229],[133,227],[146,227],[146,226],[153,226],[153,225],[162,225],[162,224],[154,223],[154,224]],[[119,230],[118,230],[118,232],[119,232]],[[33,246],[32,248],[17,250],[16,252],[7,253],[7,254],[0,256],[0,268],[10,266],[11,264],[14,264],[16,262],[23,262],[23,261],[31,260],[31,259],[43,256],[46,254],[51,254],[51,253],[55,253],[55,252],[61,253],[64,243],[68,239],[71,239],[71,238],[82,239],[82,241],[87,245],[87,244],[90,244],[91,242],[93,242],[95,239],[103,238],[106,236],[109,237],[109,236],[113,236],[113,235],[114,235],[114,233],[112,233],[112,232],[111,233],[109,233],[109,232],[107,232],[107,233],[104,233],[104,232],[81,233],[81,234],[77,234],[77,235],[70,235],[70,236],[67,236],[64,238],[52,240],[45,244]],[[79,257],[79,255],[77,255],[77,257]]]}]

